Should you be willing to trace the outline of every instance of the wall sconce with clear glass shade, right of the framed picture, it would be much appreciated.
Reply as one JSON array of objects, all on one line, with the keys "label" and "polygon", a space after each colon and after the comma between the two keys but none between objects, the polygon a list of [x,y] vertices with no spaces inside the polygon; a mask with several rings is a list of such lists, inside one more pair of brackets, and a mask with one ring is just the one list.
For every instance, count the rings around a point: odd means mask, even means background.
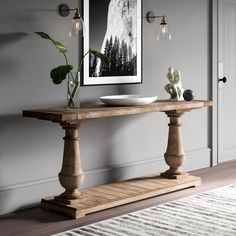
[{"label": "wall sconce with clear glass shade, right of the framed picture", "polygon": [[169,33],[166,16],[155,16],[152,11],[149,11],[146,15],[146,19],[149,23],[153,23],[156,18],[161,18],[157,40],[171,40],[171,34]]}]

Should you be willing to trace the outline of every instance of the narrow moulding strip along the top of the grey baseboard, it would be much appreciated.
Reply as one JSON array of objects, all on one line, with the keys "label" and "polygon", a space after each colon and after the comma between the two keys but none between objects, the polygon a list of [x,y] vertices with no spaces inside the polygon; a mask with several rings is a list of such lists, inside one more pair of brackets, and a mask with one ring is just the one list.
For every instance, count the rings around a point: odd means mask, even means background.
[{"label": "narrow moulding strip along the top of the grey baseboard", "polygon": [[[186,152],[187,161],[191,160],[196,155],[201,155],[204,153],[206,154],[206,153],[210,153],[210,152],[211,152],[210,148],[191,150],[189,152]],[[160,163],[160,162],[165,163],[163,156],[157,156],[154,158],[144,159],[144,160],[135,161],[135,162],[128,162],[128,163],[124,163],[121,165],[115,165],[113,167],[104,167],[104,168],[99,168],[99,169],[94,169],[94,170],[88,170],[85,172],[85,176],[97,175],[97,174],[104,173],[104,172],[111,172],[111,171],[115,171],[115,170],[119,170],[119,169],[132,168],[132,167],[137,167],[140,165],[145,166],[145,165],[149,165],[152,163]],[[43,184],[57,182],[57,181],[58,181],[58,177],[53,176],[53,177],[49,177],[49,178],[45,178],[45,179],[38,179],[38,180],[32,180],[32,181],[27,181],[27,182],[22,182],[22,183],[4,185],[4,186],[0,186],[0,193],[5,192],[5,191],[14,190],[14,189],[27,188],[27,187],[31,187],[31,186],[43,185]]]}]

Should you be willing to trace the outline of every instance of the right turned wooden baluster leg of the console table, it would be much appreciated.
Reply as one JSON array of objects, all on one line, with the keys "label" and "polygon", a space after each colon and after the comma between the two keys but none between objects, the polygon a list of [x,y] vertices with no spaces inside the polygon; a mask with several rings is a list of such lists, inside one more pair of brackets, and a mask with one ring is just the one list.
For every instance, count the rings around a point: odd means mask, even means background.
[{"label": "right turned wooden baluster leg of the console table", "polygon": [[183,112],[178,113],[170,111],[166,112],[166,114],[170,118],[170,123],[168,145],[164,156],[165,161],[170,168],[161,175],[171,179],[176,179],[187,175],[187,173],[184,173],[181,170],[181,166],[186,159],[181,132],[181,116],[183,115]]}]

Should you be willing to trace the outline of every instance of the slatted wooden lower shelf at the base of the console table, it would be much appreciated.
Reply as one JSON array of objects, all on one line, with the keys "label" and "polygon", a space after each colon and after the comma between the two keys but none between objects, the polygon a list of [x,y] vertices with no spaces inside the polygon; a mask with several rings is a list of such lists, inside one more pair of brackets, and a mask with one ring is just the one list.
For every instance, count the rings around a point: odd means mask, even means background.
[{"label": "slatted wooden lower shelf at the base of the console table", "polygon": [[200,184],[200,177],[191,175],[178,179],[152,175],[85,189],[76,200],[62,202],[58,197],[45,198],[42,199],[41,205],[44,209],[61,212],[77,219],[93,212],[180,189],[197,187]]}]

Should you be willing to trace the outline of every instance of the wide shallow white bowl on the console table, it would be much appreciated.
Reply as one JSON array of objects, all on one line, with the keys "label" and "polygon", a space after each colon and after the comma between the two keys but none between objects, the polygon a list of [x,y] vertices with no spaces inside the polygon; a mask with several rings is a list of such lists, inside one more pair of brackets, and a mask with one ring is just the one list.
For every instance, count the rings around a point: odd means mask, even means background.
[{"label": "wide shallow white bowl on the console table", "polygon": [[137,106],[153,103],[157,100],[157,96],[144,96],[138,94],[112,95],[100,97],[100,100],[111,106]]}]

